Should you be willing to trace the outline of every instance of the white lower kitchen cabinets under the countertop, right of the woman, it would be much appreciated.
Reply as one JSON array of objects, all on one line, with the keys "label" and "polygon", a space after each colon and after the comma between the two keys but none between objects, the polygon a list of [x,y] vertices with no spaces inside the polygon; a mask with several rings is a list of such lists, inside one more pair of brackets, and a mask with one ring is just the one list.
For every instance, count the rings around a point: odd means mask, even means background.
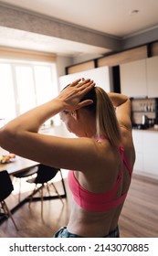
[{"label": "white lower kitchen cabinets under the countertop, right of the woman", "polygon": [[136,161],[133,172],[158,179],[158,132],[132,131]]}]

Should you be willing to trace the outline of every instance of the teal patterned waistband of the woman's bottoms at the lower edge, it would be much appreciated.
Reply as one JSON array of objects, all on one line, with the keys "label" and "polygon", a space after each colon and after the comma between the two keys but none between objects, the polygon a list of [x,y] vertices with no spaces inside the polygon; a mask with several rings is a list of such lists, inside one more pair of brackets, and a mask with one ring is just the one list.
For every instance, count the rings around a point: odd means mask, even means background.
[{"label": "teal patterned waistband of the woman's bottoms at the lower edge", "polygon": [[[58,231],[54,234],[54,238],[83,238],[83,237],[80,237],[79,235],[76,235],[76,234],[72,234],[68,232],[67,227],[63,227],[61,229],[58,229]],[[119,227],[111,231],[104,238],[120,238]]]}]

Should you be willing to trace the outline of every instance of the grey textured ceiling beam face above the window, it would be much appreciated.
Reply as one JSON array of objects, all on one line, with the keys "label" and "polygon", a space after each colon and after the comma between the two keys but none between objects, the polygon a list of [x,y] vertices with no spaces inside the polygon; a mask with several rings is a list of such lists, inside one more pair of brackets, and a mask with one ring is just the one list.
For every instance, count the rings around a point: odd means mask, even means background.
[{"label": "grey textured ceiling beam face above the window", "polygon": [[121,38],[80,27],[50,16],[37,14],[14,5],[0,3],[0,26],[49,37],[58,37],[95,47],[121,50]]}]

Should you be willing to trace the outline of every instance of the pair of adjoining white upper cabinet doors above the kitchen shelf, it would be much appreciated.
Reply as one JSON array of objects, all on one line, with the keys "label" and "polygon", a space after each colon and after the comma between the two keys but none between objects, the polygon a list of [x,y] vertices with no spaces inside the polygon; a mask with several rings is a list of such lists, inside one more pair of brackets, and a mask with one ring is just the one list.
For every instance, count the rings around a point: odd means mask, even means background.
[{"label": "pair of adjoining white upper cabinet doors above the kitchen shelf", "polygon": [[158,97],[158,57],[122,64],[121,93],[129,97]]}]

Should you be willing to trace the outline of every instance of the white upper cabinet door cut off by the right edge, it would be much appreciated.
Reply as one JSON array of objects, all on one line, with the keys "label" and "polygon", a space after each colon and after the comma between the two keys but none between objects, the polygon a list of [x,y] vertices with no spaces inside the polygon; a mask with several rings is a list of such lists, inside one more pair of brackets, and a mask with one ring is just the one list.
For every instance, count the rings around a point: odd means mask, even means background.
[{"label": "white upper cabinet door cut off by the right edge", "polygon": [[158,97],[158,56],[146,59],[147,95]]}]

